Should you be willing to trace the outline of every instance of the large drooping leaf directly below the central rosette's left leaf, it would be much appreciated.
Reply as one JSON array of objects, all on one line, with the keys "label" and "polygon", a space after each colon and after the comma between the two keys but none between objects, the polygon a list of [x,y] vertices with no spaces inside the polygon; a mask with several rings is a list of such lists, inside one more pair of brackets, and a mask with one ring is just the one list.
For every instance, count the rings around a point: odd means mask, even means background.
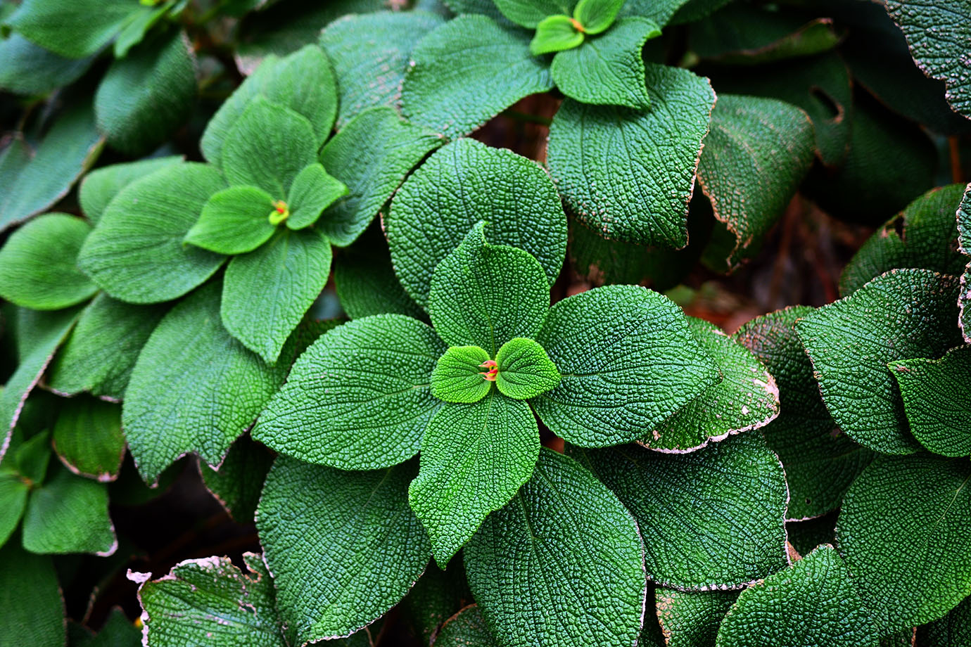
[{"label": "large drooping leaf directly below the central rosette's left leaf", "polygon": [[414,463],[348,472],[277,459],[256,528],[290,644],[357,631],[412,588],[430,555],[408,507],[414,474]]}]

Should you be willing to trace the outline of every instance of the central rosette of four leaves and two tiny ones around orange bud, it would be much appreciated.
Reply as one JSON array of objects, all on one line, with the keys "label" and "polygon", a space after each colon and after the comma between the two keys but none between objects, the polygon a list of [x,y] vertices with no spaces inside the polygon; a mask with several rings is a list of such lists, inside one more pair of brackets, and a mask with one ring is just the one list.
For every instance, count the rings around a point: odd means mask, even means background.
[{"label": "central rosette of four leaves and two tiny ones around orange bud", "polygon": [[643,436],[719,379],[681,311],[634,286],[550,307],[547,276],[480,222],[436,267],[432,326],[384,314],[314,343],[253,437],[303,461],[381,469],[420,449],[409,501],[439,564],[519,491],[537,417],[586,447]]}]

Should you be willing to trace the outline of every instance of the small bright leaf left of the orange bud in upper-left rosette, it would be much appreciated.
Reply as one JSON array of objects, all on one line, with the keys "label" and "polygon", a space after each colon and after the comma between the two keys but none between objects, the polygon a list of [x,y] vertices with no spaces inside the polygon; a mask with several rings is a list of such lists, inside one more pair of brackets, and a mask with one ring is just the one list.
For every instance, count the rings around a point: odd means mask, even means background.
[{"label": "small bright leaf left of the orange bud in upper-left rosette", "polygon": [[277,231],[277,201],[255,186],[230,186],[206,201],[184,242],[218,254],[244,254]]}]

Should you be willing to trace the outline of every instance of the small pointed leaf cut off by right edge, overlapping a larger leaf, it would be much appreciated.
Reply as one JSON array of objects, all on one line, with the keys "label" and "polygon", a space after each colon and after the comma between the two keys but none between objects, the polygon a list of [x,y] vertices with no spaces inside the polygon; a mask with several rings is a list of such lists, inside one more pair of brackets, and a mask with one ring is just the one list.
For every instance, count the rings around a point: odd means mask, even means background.
[{"label": "small pointed leaf cut off by right edge, overlapping a larger leaf", "polygon": [[971,454],[971,346],[953,348],[939,360],[901,360],[887,368],[921,445],[944,456]]}]

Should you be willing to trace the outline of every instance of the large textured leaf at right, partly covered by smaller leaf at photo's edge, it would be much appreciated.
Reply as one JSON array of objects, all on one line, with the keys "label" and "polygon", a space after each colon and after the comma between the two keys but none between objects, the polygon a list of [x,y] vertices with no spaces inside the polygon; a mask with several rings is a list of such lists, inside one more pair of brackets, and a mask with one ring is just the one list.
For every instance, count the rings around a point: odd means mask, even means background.
[{"label": "large textured leaf at right, partly covered by smaller leaf at photo's edge", "polygon": [[956,303],[956,278],[891,270],[796,322],[822,402],[849,437],[885,454],[921,448],[887,363],[940,357],[960,344]]}]

